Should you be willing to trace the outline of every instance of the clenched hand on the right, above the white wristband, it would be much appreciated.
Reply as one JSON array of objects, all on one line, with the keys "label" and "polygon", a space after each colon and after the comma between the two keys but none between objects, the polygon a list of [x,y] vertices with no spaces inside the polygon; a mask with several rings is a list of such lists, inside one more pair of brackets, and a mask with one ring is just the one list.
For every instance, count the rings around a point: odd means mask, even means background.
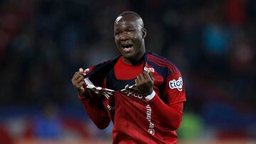
[{"label": "clenched hand on the right, above the white wristband", "polygon": [[147,96],[153,92],[154,78],[149,72],[143,71],[137,76],[137,79],[135,79],[135,84],[139,92],[141,92],[143,96]]}]

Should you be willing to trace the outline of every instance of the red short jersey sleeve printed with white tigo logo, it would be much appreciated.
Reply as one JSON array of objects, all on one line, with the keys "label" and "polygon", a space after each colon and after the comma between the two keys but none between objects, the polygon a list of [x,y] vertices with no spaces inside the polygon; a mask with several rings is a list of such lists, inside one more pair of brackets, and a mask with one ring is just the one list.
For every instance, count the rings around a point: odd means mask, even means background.
[{"label": "red short jersey sleeve printed with white tigo logo", "polygon": [[186,101],[185,87],[181,72],[175,72],[166,78],[163,96],[166,104],[176,104],[178,102]]}]

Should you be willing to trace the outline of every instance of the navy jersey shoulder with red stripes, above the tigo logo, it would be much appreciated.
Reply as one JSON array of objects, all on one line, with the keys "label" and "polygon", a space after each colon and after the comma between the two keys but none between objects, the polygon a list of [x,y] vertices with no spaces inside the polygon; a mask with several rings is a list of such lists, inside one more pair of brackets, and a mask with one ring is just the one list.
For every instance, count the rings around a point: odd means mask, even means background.
[{"label": "navy jersey shoulder with red stripes, above the tigo logo", "polygon": [[153,52],[148,52],[146,58],[149,65],[153,66],[154,68],[158,68],[159,70],[167,70],[171,74],[179,72],[178,67],[176,67],[174,62],[171,62],[171,60],[168,60],[166,57],[162,57]]}]

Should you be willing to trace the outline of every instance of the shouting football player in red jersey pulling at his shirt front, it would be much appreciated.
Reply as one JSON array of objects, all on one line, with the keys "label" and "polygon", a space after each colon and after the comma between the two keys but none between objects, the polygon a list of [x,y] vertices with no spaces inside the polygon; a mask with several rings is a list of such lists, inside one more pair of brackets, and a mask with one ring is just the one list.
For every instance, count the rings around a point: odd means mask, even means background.
[{"label": "shouting football player in red jersey pulling at his shirt front", "polygon": [[142,18],[121,13],[114,21],[121,55],[80,68],[72,78],[95,125],[103,129],[113,122],[112,143],[177,143],[186,101],[181,73],[169,60],[146,52],[145,37]]}]

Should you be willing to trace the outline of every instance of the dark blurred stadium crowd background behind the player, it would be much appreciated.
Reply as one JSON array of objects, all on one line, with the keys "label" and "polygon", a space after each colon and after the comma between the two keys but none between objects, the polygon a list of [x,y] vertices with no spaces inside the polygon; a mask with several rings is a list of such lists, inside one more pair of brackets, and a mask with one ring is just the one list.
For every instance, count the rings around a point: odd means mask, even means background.
[{"label": "dark blurred stadium crowd background behind the player", "polygon": [[183,74],[180,143],[256,143],[254,0],[1,0],[0,143],[111,143],[70,79],[118,55],[113,23],[127,10]]}]

